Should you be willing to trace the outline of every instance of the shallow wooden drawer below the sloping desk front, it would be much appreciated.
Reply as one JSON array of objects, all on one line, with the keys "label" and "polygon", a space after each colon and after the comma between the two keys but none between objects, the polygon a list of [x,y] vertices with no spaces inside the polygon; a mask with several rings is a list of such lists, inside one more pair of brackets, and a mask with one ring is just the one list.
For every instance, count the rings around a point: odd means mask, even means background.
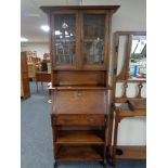
[{"label": "shallow wooden drawer below the sloping desk front", "polygon": [[52,115],[54,126],[104,126],[104,115]]}]

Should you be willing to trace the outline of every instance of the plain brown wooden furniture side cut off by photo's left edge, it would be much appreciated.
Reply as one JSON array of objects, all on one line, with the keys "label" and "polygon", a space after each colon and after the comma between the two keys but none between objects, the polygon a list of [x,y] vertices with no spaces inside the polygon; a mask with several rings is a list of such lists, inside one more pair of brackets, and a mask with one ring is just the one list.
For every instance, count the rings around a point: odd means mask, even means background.
[{"label": "plain brown wooden furniture side cut off by photo's left edge", "polygon": [[28,68],[27,68],[27,52],[21,52],[21,98],[27,99],[30,96]]}]

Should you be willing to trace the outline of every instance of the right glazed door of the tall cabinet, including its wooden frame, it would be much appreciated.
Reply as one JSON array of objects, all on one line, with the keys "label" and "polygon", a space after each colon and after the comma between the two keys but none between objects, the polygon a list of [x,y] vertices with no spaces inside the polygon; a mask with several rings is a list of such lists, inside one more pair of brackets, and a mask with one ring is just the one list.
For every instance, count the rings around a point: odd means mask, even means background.
[{"label": "right glazed door of the tall cabinet, including its wooden frame", "polygon": [[81,22],[81,55],[83,69],[106,69],[107,12],[85,11]]}]

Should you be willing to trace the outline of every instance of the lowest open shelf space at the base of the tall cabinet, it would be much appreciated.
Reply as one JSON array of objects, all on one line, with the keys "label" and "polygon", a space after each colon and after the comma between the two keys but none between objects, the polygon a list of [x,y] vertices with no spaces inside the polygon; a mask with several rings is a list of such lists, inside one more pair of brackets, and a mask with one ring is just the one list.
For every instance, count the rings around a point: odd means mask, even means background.
[{"label": "lowest open shelf space at the base of the tall cabinet", "polygon": [[[56,158],[60,160],[102,160],[103,154],[93,146],[60,146]],[[103,153],[103,152],[102,152]]]}]

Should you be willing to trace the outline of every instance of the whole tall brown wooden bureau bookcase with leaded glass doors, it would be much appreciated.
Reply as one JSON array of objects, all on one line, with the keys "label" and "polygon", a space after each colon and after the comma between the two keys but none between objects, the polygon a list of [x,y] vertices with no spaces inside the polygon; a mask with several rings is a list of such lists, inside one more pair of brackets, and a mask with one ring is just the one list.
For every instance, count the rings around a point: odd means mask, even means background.
[{"label": "whole tall brown wooden bureau bookcase with leaded glass doors", "polygon": [[50,24],[55,160],[102,160],[112,15],[118,5],[41,7]]}]

